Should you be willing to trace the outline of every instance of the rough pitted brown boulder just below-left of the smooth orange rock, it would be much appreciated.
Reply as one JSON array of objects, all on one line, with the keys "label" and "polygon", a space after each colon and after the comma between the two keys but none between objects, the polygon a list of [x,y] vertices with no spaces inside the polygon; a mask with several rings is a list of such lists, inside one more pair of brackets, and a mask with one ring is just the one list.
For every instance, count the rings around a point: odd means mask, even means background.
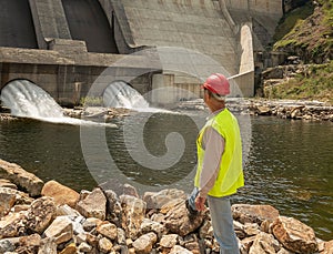
[{"label": "rough pitted brown boulder just below-left of the smooth orange rock", "polygon": [[27,226],[41,234],[53,221],[57,207],[51,197],[43,196],[31,203],[28,210]]}]

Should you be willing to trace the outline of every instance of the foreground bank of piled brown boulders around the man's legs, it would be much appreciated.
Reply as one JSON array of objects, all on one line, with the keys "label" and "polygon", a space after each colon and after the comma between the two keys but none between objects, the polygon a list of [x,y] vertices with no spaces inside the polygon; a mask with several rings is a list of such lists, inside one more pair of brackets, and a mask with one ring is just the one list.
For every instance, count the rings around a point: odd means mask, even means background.
[{"label": "foreground bank of piled brown boulders around the man's legs", "polygon": [[[139,196],[110,181],[78,193],[2,160],[0,179],[0,253],[219,253],[209,210],[189,217],[181,190]],[[242,254],[333,252],[333,240],[271,205],[234,204],[232,212]]]}]

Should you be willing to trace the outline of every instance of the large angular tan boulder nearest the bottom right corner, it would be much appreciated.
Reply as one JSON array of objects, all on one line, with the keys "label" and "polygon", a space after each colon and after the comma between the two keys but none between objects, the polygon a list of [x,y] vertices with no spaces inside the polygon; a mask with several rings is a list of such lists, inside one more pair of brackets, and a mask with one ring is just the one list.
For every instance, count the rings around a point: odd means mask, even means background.
[{"label": "large angular tan boulder nearest the bottom right corner", "polygon": [[292,252],[310,254],[319,248],[314,231],[293,217],[278,217],[272,224],[272,232]]}]

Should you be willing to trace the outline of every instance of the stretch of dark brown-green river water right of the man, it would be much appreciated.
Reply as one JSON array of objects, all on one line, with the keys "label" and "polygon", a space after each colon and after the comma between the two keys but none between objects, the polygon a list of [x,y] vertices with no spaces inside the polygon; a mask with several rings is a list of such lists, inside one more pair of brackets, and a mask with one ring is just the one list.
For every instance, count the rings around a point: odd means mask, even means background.
[{"label": "stretch of dark brown-green river water right of the man", "polygon": [[316,233],[333,232],[333,124],[255,118],[246,186],[238,202],[272,203]]}]

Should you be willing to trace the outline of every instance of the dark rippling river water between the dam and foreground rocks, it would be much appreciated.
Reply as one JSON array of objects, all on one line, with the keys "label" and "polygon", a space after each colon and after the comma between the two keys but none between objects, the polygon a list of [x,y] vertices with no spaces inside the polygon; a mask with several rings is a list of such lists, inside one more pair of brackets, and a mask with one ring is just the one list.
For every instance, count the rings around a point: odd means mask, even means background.
[{"label": "dark rippling river water between the dam and foreground rocks", "polygon": [[[97,133],[100,138],[90,136],[89,143],[83,139],[82,144],[82,133],[87,132],[79,125],[28,119],[0,121],[0,158],[43,181],[54,179],[77,191],[91,190],[97,182],[114,177],[147,190],[175,186],[189,192],[195,169],[195,138],[203,122],[204,115],[195,112],[190,116],[134,114],[114,119],[118,129],[103,128]],[[138,124],[143,128],[141,135],[140,126],[135,134]],[[251,116],[246,124],[251,125],[251,143],[245,152],[245,186],[233,203],[271,204],[281,215],[313,227],[317,237],[332,240],[333,123]],[[144,151],[135,153],[142,151],[142,142],[148,158]],[[97,148],[92,159],[83,146]],[[176,163],[169,165],[171,159],[163,159],[163,154],[174,156]]]}]

